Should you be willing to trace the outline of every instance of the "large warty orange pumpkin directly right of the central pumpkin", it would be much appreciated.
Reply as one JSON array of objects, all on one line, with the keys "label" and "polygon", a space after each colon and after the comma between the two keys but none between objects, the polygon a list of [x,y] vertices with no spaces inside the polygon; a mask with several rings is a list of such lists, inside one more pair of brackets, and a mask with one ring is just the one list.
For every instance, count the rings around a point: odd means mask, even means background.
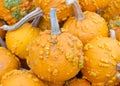
[{"label": "large warty orange pumpkin directly right of the central pumpkin", "polygon": [[120,62],[120,43],[116,39],[97,37],[84,47],[85,66],[83,76],[93,86],[117,84],[116,65]]}]

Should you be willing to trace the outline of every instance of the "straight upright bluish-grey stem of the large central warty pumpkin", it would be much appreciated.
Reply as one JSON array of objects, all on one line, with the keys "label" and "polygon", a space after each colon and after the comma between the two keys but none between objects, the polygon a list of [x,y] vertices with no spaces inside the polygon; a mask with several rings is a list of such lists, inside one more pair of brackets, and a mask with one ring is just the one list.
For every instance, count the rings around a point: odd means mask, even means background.
[{"label": "straight upright bluish-grey stem of the large central warty pumpkin", "polygon": [[51,21],[51,35],[61,34],[57,16],[56,16],[56,8],[50,9],[50,21]]}]

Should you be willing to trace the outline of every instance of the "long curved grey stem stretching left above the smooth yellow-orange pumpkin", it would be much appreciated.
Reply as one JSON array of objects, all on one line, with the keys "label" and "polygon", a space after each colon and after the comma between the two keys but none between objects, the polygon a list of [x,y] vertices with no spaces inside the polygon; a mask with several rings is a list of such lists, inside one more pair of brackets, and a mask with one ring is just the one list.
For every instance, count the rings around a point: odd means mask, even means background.
[{"label": "long curved grey stem stretching left above the smooth yellow-orange pumpkin", "polygon": [[22,26],[25,22],[28,22],[38,16],[42,16],[42,10],[38,7],[36,8],[34,11],[32,11],[31,13],[29,13],[28,15],[26,15],[25,17],[23,17],[19,22],[17,22],[16,24],[9,26],[9,25],[3,25],[0,28],[2,28],[3,30],[16,30],[17,28],[19,28],[20,26]]}]

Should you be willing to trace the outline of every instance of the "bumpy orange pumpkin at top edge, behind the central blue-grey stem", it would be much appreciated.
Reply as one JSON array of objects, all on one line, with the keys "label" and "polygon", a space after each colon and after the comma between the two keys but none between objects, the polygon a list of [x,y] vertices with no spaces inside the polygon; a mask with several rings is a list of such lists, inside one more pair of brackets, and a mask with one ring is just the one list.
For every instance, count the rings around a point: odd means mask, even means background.
[{"label": "bumpy orange pumpkin at top edge, behind the central blue-grey stem", "polygon": [[57,9],[58,21],[66,20],[73,14],[72,6],[66,5],[66,0],[33,0],[36,7],[40,7],[44,12],[44,18],[49,20],[50,8]]}]

